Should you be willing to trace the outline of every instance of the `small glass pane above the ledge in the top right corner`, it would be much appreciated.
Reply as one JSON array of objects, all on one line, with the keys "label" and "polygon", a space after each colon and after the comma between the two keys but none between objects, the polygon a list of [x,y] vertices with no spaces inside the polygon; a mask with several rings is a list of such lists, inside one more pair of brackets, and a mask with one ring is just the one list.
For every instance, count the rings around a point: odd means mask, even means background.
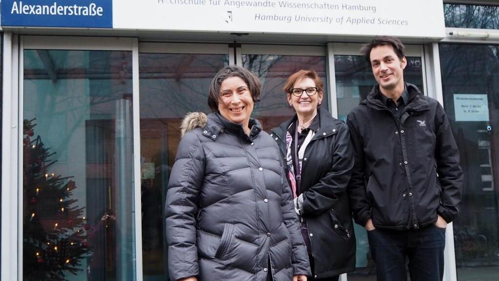
[{"label": "small glass pane above the ledge in the top right corner", "polygon": [[444,4],[445,26],[499,29],[499,7]]}]

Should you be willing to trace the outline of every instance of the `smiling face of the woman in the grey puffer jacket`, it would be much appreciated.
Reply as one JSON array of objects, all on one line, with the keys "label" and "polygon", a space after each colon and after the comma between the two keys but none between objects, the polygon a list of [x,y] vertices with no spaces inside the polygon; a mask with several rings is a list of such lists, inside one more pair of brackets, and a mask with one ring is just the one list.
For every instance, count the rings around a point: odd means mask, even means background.
[{"label": "smiling face of the woman in the grey puffer jacket", "polygon": [[225,119],[242,124],[246,129],[253,105],[250,89],[243,79],[233,76],[222,81],[218,110]]}]

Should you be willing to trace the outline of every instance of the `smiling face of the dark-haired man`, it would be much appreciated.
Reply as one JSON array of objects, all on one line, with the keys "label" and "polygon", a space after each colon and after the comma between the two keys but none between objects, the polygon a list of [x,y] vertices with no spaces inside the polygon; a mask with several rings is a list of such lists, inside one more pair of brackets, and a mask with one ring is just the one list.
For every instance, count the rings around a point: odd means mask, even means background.
[{"label": "smiling face of the dark-haired man", "polygon": [[404,87],[404,68],[407,65],[405,57],[400,59],[392,45],[374,47],[370,53],[373,75],[383,90],[393,90]]}]

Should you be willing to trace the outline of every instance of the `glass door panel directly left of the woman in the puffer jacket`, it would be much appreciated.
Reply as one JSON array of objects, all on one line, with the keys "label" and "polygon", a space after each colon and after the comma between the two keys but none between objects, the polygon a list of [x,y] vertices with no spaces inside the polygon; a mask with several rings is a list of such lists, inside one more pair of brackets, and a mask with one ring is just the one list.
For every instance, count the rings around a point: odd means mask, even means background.
[{"label": "glass door panel directly left of the woman in the puffer jacket", "polygon": [[170,280],[163,210],[181,119],[211,112],[210,82],[228,64],[224,54],[139,54],[144,281]]}]

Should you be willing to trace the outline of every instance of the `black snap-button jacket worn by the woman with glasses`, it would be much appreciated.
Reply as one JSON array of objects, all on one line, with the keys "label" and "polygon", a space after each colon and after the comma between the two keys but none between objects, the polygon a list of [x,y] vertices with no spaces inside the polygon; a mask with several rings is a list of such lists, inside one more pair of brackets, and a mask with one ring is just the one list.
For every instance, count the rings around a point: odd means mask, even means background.
[{"label": "black snap-button jacket worn by the woman with glasses", "polygon": [[[303,155],[299,191],[303,194],[303,218],[315,261],[314,273],[320,279],[355,271],[356,243],[346,193],[353,167],[348,127],[326,109],[318,111],[319,130]],[[282,159],[286,155],[287,128],[296,118],[272,129],[271,137],[279,144]]]}]

